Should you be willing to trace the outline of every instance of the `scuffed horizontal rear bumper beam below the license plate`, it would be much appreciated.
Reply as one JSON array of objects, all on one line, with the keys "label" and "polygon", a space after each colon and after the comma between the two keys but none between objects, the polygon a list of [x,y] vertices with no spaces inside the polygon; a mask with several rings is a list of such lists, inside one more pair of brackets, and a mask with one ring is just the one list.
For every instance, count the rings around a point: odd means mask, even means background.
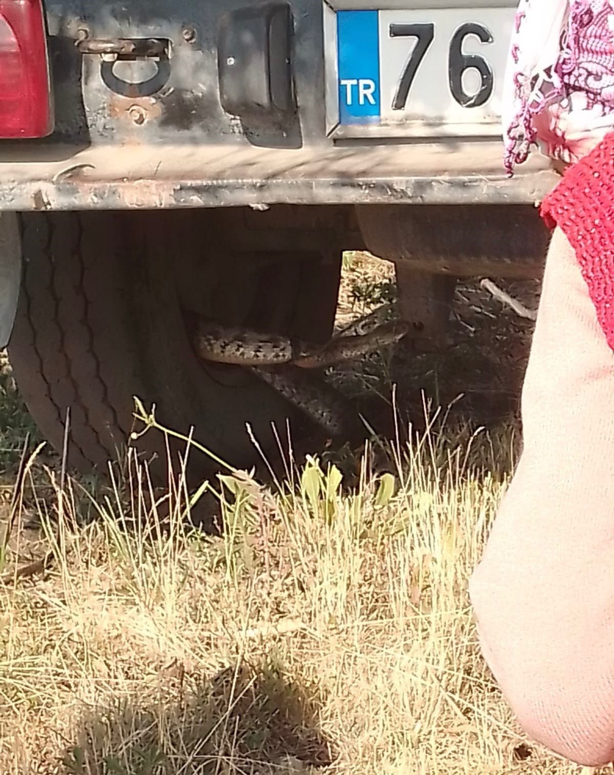
[{"label": "scuffed horizontal rear bumper beam below the license plate", "polygon": [[70,146],[0,147],[0,210],[527,204],[556,181],[537,156],[507,178],[500,141],[299,150],[127,143],[76,153]]}]

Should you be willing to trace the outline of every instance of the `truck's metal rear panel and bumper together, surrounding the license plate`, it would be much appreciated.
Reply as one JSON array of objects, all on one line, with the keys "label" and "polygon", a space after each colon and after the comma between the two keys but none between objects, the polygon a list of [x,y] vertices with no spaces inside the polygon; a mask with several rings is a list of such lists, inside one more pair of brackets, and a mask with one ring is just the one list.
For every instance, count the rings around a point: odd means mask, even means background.
[{"label": "truck's metal rear panel and bumper together, surrounding the license plate", "polygon": [[[537,156],[507,179],[502,142],[492,135],[336,136],[338,110],[328,110],[337,93],[336,59],[323,0],[45,0],[45,9],[56,130],[43,141],[0,141],[0,210],[526,204],[556,182]],[[275,10],[266,32],[263,20]],[[167,41],[172,56],[152,57],[155,74],[143,74],[142,61],[130,58],[115,71],[94,43],[116,39]],[[272,73],[275,95],[261,94],[256,86],[272,84]]]}]

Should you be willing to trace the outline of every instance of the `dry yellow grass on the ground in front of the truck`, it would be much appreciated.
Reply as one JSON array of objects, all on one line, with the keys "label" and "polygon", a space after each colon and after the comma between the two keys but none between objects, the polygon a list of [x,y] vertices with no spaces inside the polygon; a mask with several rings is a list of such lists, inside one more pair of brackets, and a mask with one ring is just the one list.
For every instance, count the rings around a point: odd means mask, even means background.
[{"label": "dry yellow grass on the ground in front of the truck", "polygon": [[[184,528],[180,482],[148,505],[134,460],[95,501],[27,475],[0,772],[578,772],[523,739],[476,645],[467,580],[509,446],[431,429],[391,446],[391,473],[367,451],[353,490],[317,460],[279,487],[228,474],[217,538]],[[12,573],[48,550],[44,574]]]}]

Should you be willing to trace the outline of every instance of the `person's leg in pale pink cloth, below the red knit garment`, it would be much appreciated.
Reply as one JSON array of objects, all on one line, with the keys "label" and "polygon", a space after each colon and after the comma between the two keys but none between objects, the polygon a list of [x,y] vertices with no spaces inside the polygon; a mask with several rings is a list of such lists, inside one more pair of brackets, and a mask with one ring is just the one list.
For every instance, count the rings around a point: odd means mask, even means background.
[{"label": "person's leg in pale pink cloth, below the red knit garment", "polygon": [[470,582],[492,673],[533,738],[614,760],[614,353],[556,229],[523,387],[523,454]]}]

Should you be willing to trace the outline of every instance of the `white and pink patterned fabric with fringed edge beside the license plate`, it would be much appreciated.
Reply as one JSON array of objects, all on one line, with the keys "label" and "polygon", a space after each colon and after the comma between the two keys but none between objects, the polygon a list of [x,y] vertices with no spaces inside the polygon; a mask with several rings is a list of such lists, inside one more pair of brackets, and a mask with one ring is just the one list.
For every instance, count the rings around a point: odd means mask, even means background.
[{"label": "white and pink patterned fabric with fringed edge beside the license plate", "polygon": [[567,164],[614,129],[614,0],[520,0],[506,74],[505,166],[540,145]]}]

